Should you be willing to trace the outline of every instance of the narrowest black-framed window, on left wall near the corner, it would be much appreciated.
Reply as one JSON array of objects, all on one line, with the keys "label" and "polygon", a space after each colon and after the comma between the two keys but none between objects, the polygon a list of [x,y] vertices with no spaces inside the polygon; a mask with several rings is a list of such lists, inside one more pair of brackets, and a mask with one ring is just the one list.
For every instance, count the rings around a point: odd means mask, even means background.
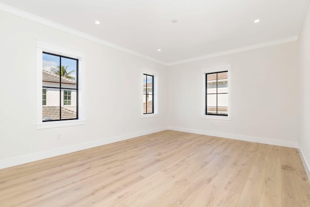
[{"label": "narrowest black-framed window, on left wall near the corner", "polygon": [[154,76],[143,74],[143,114],[154,113]]}]

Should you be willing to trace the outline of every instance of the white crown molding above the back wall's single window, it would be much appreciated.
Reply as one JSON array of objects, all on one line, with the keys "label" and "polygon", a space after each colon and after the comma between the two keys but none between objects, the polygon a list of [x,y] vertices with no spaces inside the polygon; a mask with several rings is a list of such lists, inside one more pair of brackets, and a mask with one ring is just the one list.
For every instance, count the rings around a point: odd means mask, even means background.
[{"label": "white crown molding above the back wall's single window", "polygon": [[298,36],[287,37],[287,38],[283,38],[283,39],[279,39],[279,40],[273,40],[270,42],[246,46],[243,48],[235,48],[235,49],[216,52],[216,53],[212,53],[212,54],[208,54],[208,55],[202,55],[202,56],[195,57],[195,58],[189,58],[189,59],[182,60],[182,61],[171,62],[171,63],[168,63],[168,66],[176,65],[176,64],[184,64],[184,63],[189,63],[189,62],[193,62],[193,61],[199,61],[199,60],[203,60],[203,59],[207,59],[207,58],[214,58],[214,57],[218,57],[218,56],[222,56],[222,55],[228,55],[228,54],[233,54],[233,53],[237,53],[237,52],[243,52],[243,51],[247,51],[247,50],[251,50],[251,49],[264,48],[264,47],[278,45],[278,44],[287,43],[287,42],[293,42],[293,41],[296,41],[297,39],[298,39]]}]

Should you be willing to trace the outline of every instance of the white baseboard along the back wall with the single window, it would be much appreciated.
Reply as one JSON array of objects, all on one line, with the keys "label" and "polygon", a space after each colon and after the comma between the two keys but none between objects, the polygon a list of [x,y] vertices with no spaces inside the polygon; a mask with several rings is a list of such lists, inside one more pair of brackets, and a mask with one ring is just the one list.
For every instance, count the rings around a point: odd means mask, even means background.
[{"label": "white baseboard along the back wall with the single window", "polygon": [[188,133],[215,136],[215,137],[223,137],[223,138],[228,138],[228,139],[233,139],[233,140],[242,140],[242,141],[248,141],[248,142],[254,142],[254,143],[264,143],[264,144],[272,144],[272,145],[278,145],[278,146],[287,146],[287,147],[297,148],[297,142],[292,142],[292,141],[275,140],[275,139],[268,139],[268,138],[262,138],[262,137],[253,137],[253,136],[247,136],[247,135],[230,134],[230,133],[207,131],[207,130],[193,129],[193,128],[182,128],[182,127],[169,126],[168,129],[175,130],[175,131],[183,131],[183,132],[188,132]]}]

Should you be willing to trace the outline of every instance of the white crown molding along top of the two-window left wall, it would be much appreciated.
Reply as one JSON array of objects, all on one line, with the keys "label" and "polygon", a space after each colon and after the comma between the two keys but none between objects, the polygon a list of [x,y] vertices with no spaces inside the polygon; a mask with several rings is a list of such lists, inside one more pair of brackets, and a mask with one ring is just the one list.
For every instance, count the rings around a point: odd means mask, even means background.
[{"label": "white crown molding along top of the two-window left wall", "polygon": [[28,12],[16,9],[14,7],[11,7],[11,6],[3,4],[3,3],[0,3],[0,10],[2,10],[4,12],[7,12],[7,13],[10,13],[10,14],[13,14],[13,15],[16,15],[16,16],[20,16],[20,17],[29,19],[29,20],[37,22],[37,23],[41,23],[43,25],[46,25],[46,26],[49,26],[49,27],[61,30],[63,32],[68,32],[70,34],[77,35],[79,37],[91,40],[93,42],[96,42],[96,43],[99,43],[99,44],[102,44],[102,45],[105,45],[105,46],[108,46],[108,47],[111,47],[111,48],[115,48],[115,49],[127,52],[127,53],[132,54],[132,55],[136,55],[138,57],[141,57],[141,58],[153,61],[155,63],[167,65],[166,62],[163,62],[163,61],[157,60],[155,58],[149,57],[147,55],[144,55],[142,53],[136,52],[134,50],[131,50],[131,49],[128,49],[128,48],[124,48],[122,46],[119,46],[119,45],[116,45],[114,43],[108,42],[106,40],[94,37],[94,36],[92,36],[90,34],[87,34],[87,33],[84,33],[84,32],[80,32],[78,30],[74,30],[72,28],[63,26],[61,24],[58,24],[56,22],[53,22],[53,21],[50,21],[48,19],[42,18],[40,16],[36,16],[36,15],[30,14]]}]

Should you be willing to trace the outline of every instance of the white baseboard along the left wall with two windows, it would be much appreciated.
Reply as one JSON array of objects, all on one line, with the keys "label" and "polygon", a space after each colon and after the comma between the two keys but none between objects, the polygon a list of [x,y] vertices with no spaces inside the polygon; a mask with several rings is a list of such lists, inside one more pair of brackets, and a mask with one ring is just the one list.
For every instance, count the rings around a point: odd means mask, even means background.
[{"label": "white baseboard along the left wall with two windows", "polygon": [[43,151],[43,152],[37,152],[37,153],[32,153],[28,155],[23,155],[23,156],[18,156],[14,158],[9,158],[9,159],[2,159],[0,160],[0,169],[7,168],[7,167],[12,167],[16,166],[19,164],[24,164],[32,161],[37,161],[40,159],[46,159],[46,158],[51,158],[55,157],[58,155],[63,155],[71,152],[76,152],[79,150],[83,149],[88,149],[96,146],[101,146],[104,144],[109,144],[109,143],[115,143],[147,134],[152,134],[155,132],[159,131],[164,131],[167,130],[167,127],[159,127],[159,128],[154,128],[154,129],[149,129],[145,131],[139,131],[139,132],[134,132],[130,134],[125,134],[117,137],[111,137],[107,139],[102,139],[102,140],[97,140],[89,143],[81,143],[81,144],[76,144],[76,145],[71,145],[71,146],[66,146],[62,148],[57,148],[57,149],[52,149],[48,151]]}]

